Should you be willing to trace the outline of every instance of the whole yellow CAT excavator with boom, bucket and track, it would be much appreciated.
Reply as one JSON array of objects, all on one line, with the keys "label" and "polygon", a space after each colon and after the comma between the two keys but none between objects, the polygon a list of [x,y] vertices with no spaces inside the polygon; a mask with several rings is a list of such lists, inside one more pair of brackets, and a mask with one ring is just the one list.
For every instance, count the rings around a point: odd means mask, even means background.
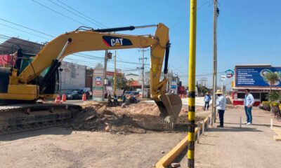
[{"label": "whole yellow CAT excavator with boom, bucket and track", "polygon": [[[155,35],[125,35],[127,31],[157,27]],[[114,33],[112,33],[114,32]],[[73,104],[36,104],[38,99],[54,99],[58,93],[61,61],[75,52],[150,47],[150,97],[162,118],[173,127],[181,111],[181,98],[166,94],[168,82],[169,28],[164,24],[110,29],[78,29],[61,34],[47,43],[34,57],[19,49],[15,65],[0,68],[0,134],[48,127],[69,120],[80,106]],[[19,46],[20,48],[20,46]],[[160,81],[164,62],[164,79]]]}]

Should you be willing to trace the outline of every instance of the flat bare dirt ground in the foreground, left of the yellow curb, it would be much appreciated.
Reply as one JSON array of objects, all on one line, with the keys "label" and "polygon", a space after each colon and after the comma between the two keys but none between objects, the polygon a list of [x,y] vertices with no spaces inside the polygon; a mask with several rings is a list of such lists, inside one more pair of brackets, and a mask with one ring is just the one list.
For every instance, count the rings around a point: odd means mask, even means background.
[{"label": "flat bare dirt ground in the foreground, left of the yellow curb", "polygon": [[1,136],[0,163],[5,168],[152,168],[185,136],[184,132],[123,135],[53,127]]}]

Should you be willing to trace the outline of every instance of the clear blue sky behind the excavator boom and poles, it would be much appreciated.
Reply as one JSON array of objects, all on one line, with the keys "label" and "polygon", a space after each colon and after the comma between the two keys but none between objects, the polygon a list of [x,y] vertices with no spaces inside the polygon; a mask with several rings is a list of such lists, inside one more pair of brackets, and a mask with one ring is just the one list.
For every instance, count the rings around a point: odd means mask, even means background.
[{"label": "clear blue sky behind the excavator boom and poles", "polygon": [[[280,6],[280,0],[218,1],[218,76],[227,69],[234,69],[236,64],[280,66]],[[213,0],[197,1],[196,74],[197,80],[207,78],[209,87],[213,69],[213,12]],[[1,0],[0,35],[41,43],[51,41],[51,36],[59,36],[81,25],[97,29],[154,25],[162,22],[169,27],[169,71],[177,73],[183,84],[187,85],[189,13],[190,1],[186,0]],[[139,35],[154,32],[155,28],[149,28],[121,33]],[[0,43],[4,41],[4,38],[0,38]],[[86,56],[71,55],[65,61],[92,67],[98,63],[103,64],[104,51],[83,53],[85,54]],[[141,54],[138,49],[117,50],[117,69],[122,69],[125,73],[139,73],[137,67],[141,67]],[[150,58],[150,52],[145,52],[145,57]],[[149,71],[149,59],[145,64],[145,70]],[[113,67],[113,60],[110,60],[108,69],[113,70]],[[226,80],[228,87],[230,83],[230,79]]]}]

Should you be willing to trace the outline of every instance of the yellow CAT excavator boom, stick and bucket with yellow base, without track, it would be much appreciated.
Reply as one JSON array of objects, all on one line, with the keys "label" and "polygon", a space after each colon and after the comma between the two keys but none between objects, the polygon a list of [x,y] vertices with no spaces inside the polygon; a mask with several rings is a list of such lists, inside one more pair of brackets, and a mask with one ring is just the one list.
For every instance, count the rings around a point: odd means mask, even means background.
[{"label": "yellow CAT excavator boom, stick and bucket with yellow base, without track", "polygon": [[[169,29],[162,23],[156,26],[154,36],[111,33],[112,31],[133,29],[133,27],[86,31],[77,29],[62,34],[47,43],[20,74],[17,73],[17,69],[13,69],[9,78],[8,91],[0,93],[0,99],[36,100],[39,97],[44,97],[41,95],[44,85],[32,85],[31,81],[49,66],[53,67],[55,71],[64,57],[75,52],[150,47],[150,95],[159,106],[160,111],[163,111],[164,116],[170,116],[169,113],[174,113],[173,116],[177,117],[181,111],[181,99],[175,95],[169,98],[169,95],[165,94],[169,57]],[[165,52],[164,79],[160,81]],[[46,80],[48,80],[48,76]]]}]

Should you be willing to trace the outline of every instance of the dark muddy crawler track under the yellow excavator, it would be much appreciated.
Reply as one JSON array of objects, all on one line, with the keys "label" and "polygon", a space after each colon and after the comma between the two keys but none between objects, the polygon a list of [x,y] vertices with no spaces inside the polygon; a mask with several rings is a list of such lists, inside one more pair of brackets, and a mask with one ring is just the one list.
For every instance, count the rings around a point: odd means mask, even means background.
[{"label": "dark muddy crawler track under the yellow excavator", "polygon": [[0,106],[0,135],[57,127],[81,111],[74,104],[17,104]]}]

